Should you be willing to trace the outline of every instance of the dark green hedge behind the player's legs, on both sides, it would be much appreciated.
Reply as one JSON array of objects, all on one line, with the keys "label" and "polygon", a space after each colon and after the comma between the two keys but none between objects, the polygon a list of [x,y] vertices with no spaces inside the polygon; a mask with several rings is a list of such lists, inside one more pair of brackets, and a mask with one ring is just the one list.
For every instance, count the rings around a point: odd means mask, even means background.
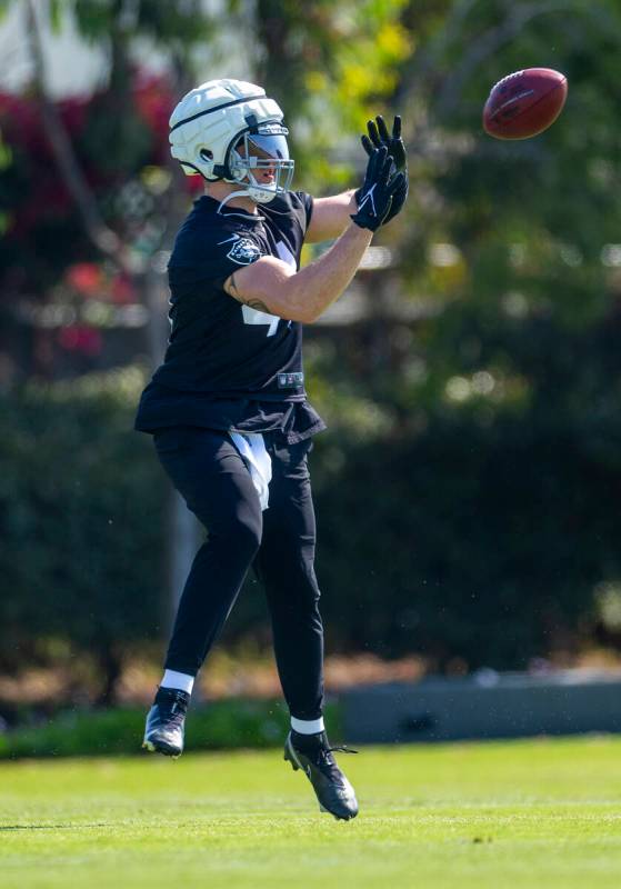
[{"label": "dark green hedge behind the player's legs, on both sides", "polygon": [[[168,486],[132,431],[143,379],[0,397],[4,672],[61,640],[96,658],[104,700],[123,657],[164,635]],[[360,433],[348,403],[311,455],[330,651],[522,668],[592,636],[598,585],[621,575],[617,411],[439,407],[398,434],[380,413]],[[252,577],[223,641],[243,636],[269,642]]]}]

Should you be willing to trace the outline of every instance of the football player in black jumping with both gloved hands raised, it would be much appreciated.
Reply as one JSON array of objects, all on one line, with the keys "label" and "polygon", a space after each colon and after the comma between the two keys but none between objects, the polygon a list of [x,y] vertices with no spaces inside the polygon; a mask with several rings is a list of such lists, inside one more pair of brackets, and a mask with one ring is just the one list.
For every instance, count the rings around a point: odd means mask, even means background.
[{"label": "football player in black jumping with both gloved hands raised", "polygon": [[[291,713],[284,757],[322,810],[358,813],[323,726],[323,628],[313,569],[308,453],[324,423],[307,400],[302,327],[343,292],[373,232],[403,206],[400,120],[362,138],[357,191],[291,191],[282,111],[260,87],[211,80],[170,119],[172,156],[202,176],[169,263],[171,333],[142,393],[137,429],[207,529],[187,579],[143,746],[177,757],[194,678],[250,566],[268,599],[276,660]],[[335,239],[335,240],[334,240]],[[306,241],[334,240],[300,269]]]}]

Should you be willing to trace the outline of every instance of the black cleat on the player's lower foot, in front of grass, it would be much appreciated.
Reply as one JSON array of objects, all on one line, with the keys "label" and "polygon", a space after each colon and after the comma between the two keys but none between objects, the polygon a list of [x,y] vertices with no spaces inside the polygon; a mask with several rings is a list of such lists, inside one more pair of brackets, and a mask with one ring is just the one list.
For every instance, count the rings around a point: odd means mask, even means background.
[{"label": "black cleat on the player's lower foot, in front of grass", "polygon": [[294,771],[301,769],[304,772],[313,787],[321,811],[349,821],[358,815],[358,800],[353,787],[334,761],[334,751],[358,752],[347,747],[330,747],[324,731],[309,736],[290,731],[284,742],[284,759]]}]

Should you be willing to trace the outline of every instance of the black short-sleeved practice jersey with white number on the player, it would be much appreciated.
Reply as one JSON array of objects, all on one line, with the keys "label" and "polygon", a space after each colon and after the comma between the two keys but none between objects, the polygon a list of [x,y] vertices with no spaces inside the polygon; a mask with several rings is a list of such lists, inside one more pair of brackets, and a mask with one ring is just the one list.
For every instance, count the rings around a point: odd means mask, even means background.
[{"label": "black short-sleeved practice jersey with white number on the player", "polygon": [[243,306],[223,289],[236,269],[262,256],[299,268],[312,198],[288,192],[259,204],[258,214],[218,208],[213,198],[197,200],[177,236],[170,339],[142,394],[137,428],[268,431],[280,417],[290,440],[312,434],[324,427],[306,403],[302,324]]}]

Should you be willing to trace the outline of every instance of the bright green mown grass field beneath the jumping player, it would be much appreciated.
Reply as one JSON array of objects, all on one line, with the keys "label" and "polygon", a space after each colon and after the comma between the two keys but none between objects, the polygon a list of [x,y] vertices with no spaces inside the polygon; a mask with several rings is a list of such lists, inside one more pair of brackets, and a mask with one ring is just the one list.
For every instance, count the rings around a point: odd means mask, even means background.
[{"label": "bright green mown grass field beneath the jumping player", "polygon": [[260,753],[0,766],[2,889],[603,889],[621,885],[621,740],[341,755],[360,816]]}]

